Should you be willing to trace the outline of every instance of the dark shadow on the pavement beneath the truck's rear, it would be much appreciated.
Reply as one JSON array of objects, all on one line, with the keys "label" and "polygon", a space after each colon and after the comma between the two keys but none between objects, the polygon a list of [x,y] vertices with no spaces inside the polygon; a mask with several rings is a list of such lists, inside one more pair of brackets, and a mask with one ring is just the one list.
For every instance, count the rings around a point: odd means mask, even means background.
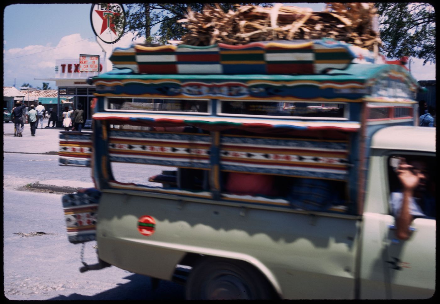
[{"label": "dark shadow on the pavement beneath the truck's rear", "polygon": [[93,296],[72,293],[69,296],[59,295],[48,300],[184,300],[185,287],[169,281],[160,281],[157,289],[151,288],[151,278],[133,274],[125,279],[131,282]]}]

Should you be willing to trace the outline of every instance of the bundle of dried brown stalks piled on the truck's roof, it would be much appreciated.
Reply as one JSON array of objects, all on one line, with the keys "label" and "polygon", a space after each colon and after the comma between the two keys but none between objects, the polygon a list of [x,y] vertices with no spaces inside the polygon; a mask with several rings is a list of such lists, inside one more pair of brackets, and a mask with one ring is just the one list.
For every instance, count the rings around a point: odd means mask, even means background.
[{"label": "bundle of dried brown stalks piled on the truck's roof", "polygon": [[327,3],[325,11],[320,12],[279,3],[273,7],[237,5],[236,8],[236,11],[224,12],[218,4],[206,4],[202,13],[198,13],[188,7],[186,18],[178,22],[189,32],[179,43],[241,45],[254,41],[328,37],[369,50],[381,45],[372,3]]}]

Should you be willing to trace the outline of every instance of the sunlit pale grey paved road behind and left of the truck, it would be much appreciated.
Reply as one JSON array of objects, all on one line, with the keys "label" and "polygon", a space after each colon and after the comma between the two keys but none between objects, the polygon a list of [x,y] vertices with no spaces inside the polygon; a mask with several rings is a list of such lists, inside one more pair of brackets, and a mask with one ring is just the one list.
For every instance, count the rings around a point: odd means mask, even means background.
[{"label": "sunlit pale grey paved road behind and left of the truck", "polygon": [[[47,123],[47,121],[46,121]],[[59,130],[37,130],[14,137],[4,123],[4,294],[10,300],[154,300],[184,299],[184,287],[161,281],[153,290],[149,277],[117,267],[79,272],[81,245],[67,241],[61,196],[18,190],[45,180],[92,184],[90,168],[59,166]],[[117,166],[117,165],[116,165]],[[151,168],[140,178],[158,172]],[[120,170],[121,178],[133,178]],[[139,178],[136,176],[134,178]],[[95,242],[84,247],[84,260],[96,262]]]}]

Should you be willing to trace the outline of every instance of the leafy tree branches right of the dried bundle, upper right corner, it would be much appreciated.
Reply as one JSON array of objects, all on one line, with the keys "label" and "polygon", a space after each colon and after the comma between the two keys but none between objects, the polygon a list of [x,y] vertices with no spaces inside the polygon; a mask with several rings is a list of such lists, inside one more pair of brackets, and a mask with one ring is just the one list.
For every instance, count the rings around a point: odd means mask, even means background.
[{"label": "leafy tree branches right of the dried bundle, upper right corner", "polygon": [[402,56],[436,63],[436,13],[427,3],[376,3],[379,29],[389,58]]}]

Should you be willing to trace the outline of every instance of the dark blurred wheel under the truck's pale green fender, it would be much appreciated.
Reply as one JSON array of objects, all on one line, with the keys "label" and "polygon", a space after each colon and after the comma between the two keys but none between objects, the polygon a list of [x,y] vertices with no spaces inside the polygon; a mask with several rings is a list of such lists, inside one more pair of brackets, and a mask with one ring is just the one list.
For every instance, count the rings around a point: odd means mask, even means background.
[{"label": "dark blurred wheel under the truck's pale green fender", "polygon": [[191,271],[187,300],[271,299],[272,287],[254,267],[242,261],[206,258]]}]

